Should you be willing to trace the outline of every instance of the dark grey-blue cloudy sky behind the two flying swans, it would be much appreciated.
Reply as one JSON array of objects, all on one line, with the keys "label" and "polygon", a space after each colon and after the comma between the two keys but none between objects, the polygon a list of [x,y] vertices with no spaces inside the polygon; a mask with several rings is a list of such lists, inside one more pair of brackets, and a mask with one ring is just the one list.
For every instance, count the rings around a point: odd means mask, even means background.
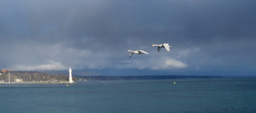
[{"label": "dark grey-blue cloudy sky behind the two flying swans", "polygon": [[0,68],[255,75],[255,20],[255,0],[0,0]]}]

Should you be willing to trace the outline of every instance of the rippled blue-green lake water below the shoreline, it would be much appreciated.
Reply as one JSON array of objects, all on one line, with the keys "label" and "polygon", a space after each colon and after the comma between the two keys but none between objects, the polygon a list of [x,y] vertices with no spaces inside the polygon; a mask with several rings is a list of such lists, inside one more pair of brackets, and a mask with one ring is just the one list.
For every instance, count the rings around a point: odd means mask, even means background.
[{"label": "rippled blue-green lake water below the shoreline", "polygon": [[0,84],[0,97],[2,113],[255,113],[256,78]]}]

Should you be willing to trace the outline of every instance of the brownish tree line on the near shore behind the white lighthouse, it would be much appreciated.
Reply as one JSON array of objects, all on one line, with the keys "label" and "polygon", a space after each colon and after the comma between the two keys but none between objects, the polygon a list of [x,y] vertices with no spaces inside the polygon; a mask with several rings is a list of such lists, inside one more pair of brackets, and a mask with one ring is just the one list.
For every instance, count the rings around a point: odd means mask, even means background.
[{"label": "brownish tree line on the near shore behind the white lighthouse", "polygon": [[[69,81],[69,75],[65,74],[48,74],[35,71],[12,71],[10,74],[10,82],[15,79],[22,79],[23,82],[33,81]],[[0,75],[0,81],[9,81],[9,74],[6,73]],[[72,76],[72,79],[76,81],[76,77]]]}]

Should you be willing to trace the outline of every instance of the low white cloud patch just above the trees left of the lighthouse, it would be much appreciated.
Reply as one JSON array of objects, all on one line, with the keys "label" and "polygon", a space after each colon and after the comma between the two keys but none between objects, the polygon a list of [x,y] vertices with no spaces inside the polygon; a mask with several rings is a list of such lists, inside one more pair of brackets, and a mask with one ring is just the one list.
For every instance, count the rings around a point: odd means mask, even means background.
[{"label": "low white cloud patch just above the trees left of the lighthouse", "polygon": [[65,70],[67,67],[63,66],[61,62],[56,62],[49,60],[46,64],[35,65],[35,66],[25,66],[16,65],[13,67],[14,70]]}]

